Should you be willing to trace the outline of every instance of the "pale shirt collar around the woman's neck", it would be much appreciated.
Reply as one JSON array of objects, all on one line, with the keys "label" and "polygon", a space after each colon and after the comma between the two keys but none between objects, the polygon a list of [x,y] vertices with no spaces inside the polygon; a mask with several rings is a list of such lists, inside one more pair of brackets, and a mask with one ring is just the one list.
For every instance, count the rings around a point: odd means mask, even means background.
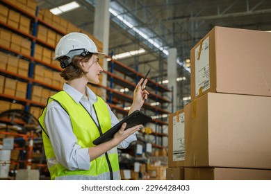
[{"label": "pale shirt collar around the woman's neck", "polygon": [[[88,87],[86,87],[86,89],[87,89],[86,92],[87,92],[88,97],[90,98],[90,100],[91,101],[93,100],[93,102],[96,102],[97,101],[97,96],[94,94],[94,92]],[[80,103],[80,100],[83,98],[83,94],[80,91],[78,91],[74,87],[68,85],[67,83],[64,84],[63,90],[66,91],[67,94],[69,94],[69,96],[71,96],[72,99],[74,99],[74,101],[76,103]]]}]

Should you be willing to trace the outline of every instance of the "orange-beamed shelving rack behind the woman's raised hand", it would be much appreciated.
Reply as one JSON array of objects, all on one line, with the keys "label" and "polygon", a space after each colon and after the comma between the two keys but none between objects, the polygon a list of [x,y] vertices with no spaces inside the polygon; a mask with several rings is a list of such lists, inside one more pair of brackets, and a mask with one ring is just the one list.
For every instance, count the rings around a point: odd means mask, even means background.
[{"label": "orange-beamed shelving rack behind the woman's raised hand", "polygon": [[[110,58],[107,56],[107,58]],[[117,85],[122,88],[128,88],[129,90],[133,90],[136,87],[136,83],[140,80],[140,78],[144,78],[145,75],[142,75],[141,73],[138,73],[138,71],[131,69],[130,67],[127,67],[125,64],[122,64],[122,62],[119,62],[117,60],[114,60],[113,58],[110,58],[110,62],[108,63],[108,69],[110,69],[110,72],[106,71],[106,74],[108,75],[107,79],[110,83],[110,89],[107,90],[108,96],[110,96],[109,103],[111,103],[110,100],[113,100],[113,96],[115,98],[118,98],[122,100],[124,103],[132,103],[133,97],[131,95],[123,94],[120,91],[113,90],[114,85]],[[121,76],[117,76],[116,73],[113,73],[113,71],[117,71],[118,73],[122,74],[124,78]],[[131,81],[128,81],[130,79]],[[170,104],[171,100],[164,98],[163,94],[165,92],[172,92],[167,87],[164,87],[163,85],[158,84],[158,82],[155,82],[154,80],[151,80],[149,78],[147,83],[147,89],[149,91],[149,100],[152,100],[154,103],[160,103],[161,107],[157,107],[154,105],[151,105],[149,102],[145,102],[143,105],[143,109],[145,112],[152,112],[157,116],[158,114],[170,114],[165,108],[163,107],[163,104],[167,103]],[[158,95],[160,94],[160,95]],[[123,104],[124,106],[124,104]],[[153,119],[152,121],[155,123],[155,130],[151,132],[151,135],[154,135],[154,143],[152,143],[152,146],[154,148],[165,148],[163,145],[163,137],[167,136],[167,134],[163,133],[163,126],[167,125],[167,121],[163,121],[162,119]],[[157,137],[161,138],[161,144],[159,145]]]}]

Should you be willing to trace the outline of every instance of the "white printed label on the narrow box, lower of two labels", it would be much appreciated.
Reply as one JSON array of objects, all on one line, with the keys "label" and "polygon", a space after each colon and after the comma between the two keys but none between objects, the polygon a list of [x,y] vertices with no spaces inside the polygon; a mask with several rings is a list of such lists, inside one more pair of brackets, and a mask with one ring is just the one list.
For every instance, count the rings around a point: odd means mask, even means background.
[{"label": "white printed label on the narrow box, lower of two labels", "polygon": [[[179,117],[179,118],[177,118]],[[184,112],[173,117],[173,161],[184,160]]]}]

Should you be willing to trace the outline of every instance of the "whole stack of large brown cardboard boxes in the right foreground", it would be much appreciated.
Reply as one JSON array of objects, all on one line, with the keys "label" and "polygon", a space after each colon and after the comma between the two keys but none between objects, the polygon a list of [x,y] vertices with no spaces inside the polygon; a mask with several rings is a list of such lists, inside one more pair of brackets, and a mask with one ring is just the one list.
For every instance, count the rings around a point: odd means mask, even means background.
[{"label": "whole stack of large brown cardboard boxes in the right foreground", "polygon": [[192,102],[169,117],[169,167],[184,179],[271,179],[268,42],[270,33],[215,27],[191,49]]}]

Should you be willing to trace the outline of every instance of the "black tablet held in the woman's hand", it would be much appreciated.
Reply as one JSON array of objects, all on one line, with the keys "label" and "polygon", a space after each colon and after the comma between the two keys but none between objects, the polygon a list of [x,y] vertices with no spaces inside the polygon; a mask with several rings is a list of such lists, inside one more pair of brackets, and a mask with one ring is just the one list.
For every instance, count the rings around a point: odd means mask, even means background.
[{"label": "black tablet held in the woman's hand", "polygon": [[115,126],[111,127],[110,130],[105,132],[104,134],[101,134],[97,139],[95,139],[92,143],[95,145],[98,145],[100,143],[104,143],[106,141],[109,141],[110,139],[113,139],[114,134],[120,130],[120,127],[122,127],[123,123],[127,123],[126,128],[131,128],[135,125],[145,125],[146,123],[149,123],[151,121],[151,116],[140,112],[139,110],[134,111],[133,113],[129,114],[129,116],[126,116],[122,121],[117,123]]}]

